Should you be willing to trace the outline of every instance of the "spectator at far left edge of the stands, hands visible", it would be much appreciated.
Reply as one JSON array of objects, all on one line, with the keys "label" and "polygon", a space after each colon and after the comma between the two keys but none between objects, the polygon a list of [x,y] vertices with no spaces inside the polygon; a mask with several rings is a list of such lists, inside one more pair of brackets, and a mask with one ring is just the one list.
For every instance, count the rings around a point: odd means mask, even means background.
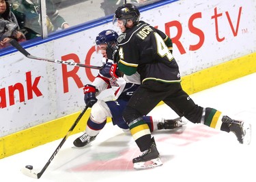
[{"label": "spectator at far left edge of the stands, hands visible", "polygon": [[0,49],[10,45],[9,41],[25,41],[25,36],[19,31],[18,22],[10,11],[7,0],[0,0]]}]

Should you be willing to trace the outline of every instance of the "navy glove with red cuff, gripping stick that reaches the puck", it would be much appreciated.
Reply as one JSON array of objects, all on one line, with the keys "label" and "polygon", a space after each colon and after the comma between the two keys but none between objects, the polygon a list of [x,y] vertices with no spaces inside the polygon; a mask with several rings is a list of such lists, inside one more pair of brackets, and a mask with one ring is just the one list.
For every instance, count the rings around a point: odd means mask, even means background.
[{"label": "navy glove with red cuff, gripping stick that reaches the puck", "polygon": [[96,98],[96,87],[87,84],[83,88],[83,93],[85,94],[85,104],[88,105],[88,107],[92,107],[98,99]]}]

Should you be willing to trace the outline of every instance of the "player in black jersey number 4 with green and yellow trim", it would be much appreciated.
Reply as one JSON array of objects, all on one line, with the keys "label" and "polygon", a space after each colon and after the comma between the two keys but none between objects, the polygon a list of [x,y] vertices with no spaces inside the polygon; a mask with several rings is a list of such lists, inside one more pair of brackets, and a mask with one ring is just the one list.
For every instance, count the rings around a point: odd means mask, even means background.
[{"label": "player in black jersey number 4 with green and yellow trim", "polygon": [[117,65],[107,65],[115,68],[118,66],[124,75],[137,72],[141,75],[141,86],[134,92],[123,112],[134,141],[143,152],[132,160],[134,168],[162,165],[150,128],[142,117],[160,101],[190,122],[233,132],[240,143],[250,143],[250,124],[232,120],[216,109],[196,105],[182,90],[179,67],[169,50],[170,38],[150,24],[139,21],[139,16],[138,8],[130,3],[115,11],[113,22],[117,22],[122,31],[117,39],[119,60]]}]

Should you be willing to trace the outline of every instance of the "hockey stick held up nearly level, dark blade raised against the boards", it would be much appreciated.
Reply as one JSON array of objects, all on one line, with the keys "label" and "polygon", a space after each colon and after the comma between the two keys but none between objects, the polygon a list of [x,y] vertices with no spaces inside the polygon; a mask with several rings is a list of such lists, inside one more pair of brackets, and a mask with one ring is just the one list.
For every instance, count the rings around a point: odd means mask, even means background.
[{"label": "hockey stick held up nearly level, dark blade raised against the boards", "polygon": [[81,64],[78,62],[68,62],[65,60],[48,59],[48,58],[40,58],[37,56],[33,56],[33,55],[29,54],[29,52],[27,52],[27,50],[25,50],[15,39],[12,39],[10,41],[10,44],[12,46],[14,46],[14,48],[16,48],[19,52],[21,52],[27,58],[36,59],[36,60],[46,60],[48,62],[56,62],[56,63],[70,65],[70,66],[76,66],[76,67],[85,67],[85,68],[90,68],[90,69],[102,69],[102,67],[97,67],[97,66],[93,66],[93,65],[84,65],[84,64]]}]

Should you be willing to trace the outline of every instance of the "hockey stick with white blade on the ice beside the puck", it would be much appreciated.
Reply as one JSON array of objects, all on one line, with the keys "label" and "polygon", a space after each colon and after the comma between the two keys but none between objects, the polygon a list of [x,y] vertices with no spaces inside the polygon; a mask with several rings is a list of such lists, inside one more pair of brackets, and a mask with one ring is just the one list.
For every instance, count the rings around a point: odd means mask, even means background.
[{"label": "hockey stick with white blade on the ice beside the puck", "polygon": [[66,134],[66,136],[64,136],[64,138],[62,139],[61,143],[59,143],[59,146],[57,147],[57,149],[55,149],[55,151],[53,152],[53,155],[51,156],[51,158],[48,160],[48,162],[44,165],[44,168],[42,168],[42,170],[40,172],[34,172],[33,171],[33,166],[31,165],[27,165],[25,166],[25,168],[21,169],[21,172],[23,172],[24,175],[27,175],[28,177],[32,177],[35,179],[40,179],[40,177],[42,176],[42,174],[44,173],[44,171],[46,170],[46,168],[48,168],[48,166],[51,164],[51,162],[53,161],[53,159],[55,158],[55,156],[57,155],[59,149],[61,149],[63,143],[65,143],[65,141],[68,139],[68,136],[70,136],[71,132],[74,130],[74,128],[76,127],[76,124],[79,123],[79,120],[81,120],[81,117],[83,117],[85,111],[88,109],[88,106],[86,106],[83,111],[81,111],[81,113],[79,114],[79,117],[76,118],[76,121],[74,122],[74,124],[71,126],[70,130],[68,130],[68,133]]}]

